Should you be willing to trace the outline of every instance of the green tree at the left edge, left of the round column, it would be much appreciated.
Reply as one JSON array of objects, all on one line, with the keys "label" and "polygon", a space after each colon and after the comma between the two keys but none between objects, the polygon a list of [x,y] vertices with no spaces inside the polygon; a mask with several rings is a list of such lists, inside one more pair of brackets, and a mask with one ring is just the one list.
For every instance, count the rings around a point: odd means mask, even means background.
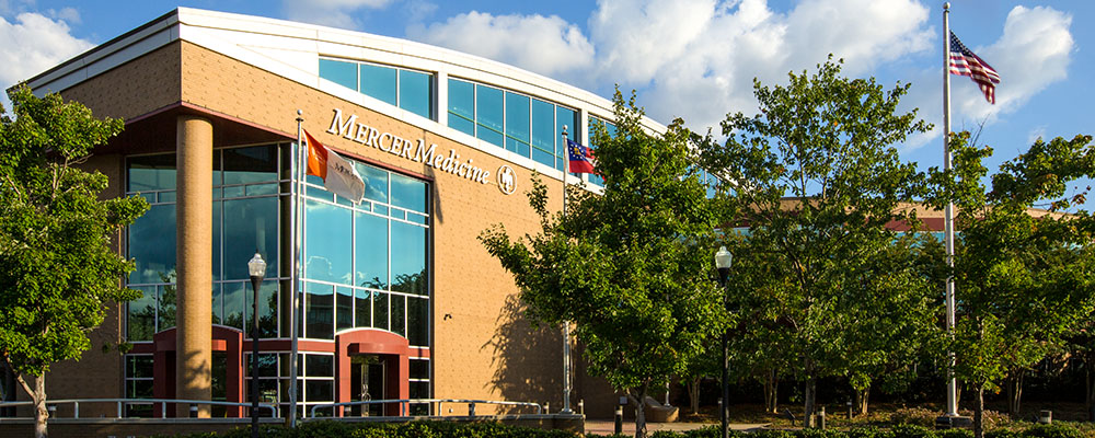
[{"label": "green tree at the left edge, left of the round column", "polygon": [[35,436],[44,437],[49,366],[80,358],[106,303],[139,297],[120,286],[132,263],[112,239],[148,203],[100,199],[106,176],[77,168],[120,120],[26,87],[9,96],[13,115],[0,108],[0,353],[33,397]]}]

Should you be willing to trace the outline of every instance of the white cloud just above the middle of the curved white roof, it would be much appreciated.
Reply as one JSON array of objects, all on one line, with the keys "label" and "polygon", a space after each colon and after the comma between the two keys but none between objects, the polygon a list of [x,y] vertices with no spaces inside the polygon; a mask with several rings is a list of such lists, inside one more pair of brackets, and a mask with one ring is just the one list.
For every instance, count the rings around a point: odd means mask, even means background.
[{"label": "white cloud just above the middle of the curved white roof", "polygon": [[555,78],[592,66],[593,46],[581,30],[552,15],[462,13],[443,23],[412,26],[408,36]]}]

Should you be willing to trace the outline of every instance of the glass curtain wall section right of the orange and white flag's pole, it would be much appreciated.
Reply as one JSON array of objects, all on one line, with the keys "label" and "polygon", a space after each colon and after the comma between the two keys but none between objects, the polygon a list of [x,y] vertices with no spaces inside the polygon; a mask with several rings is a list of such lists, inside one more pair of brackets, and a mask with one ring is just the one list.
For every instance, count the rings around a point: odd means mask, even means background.
[{"label": "glass curtain wall section right of the orange and white flag's pole", "polygon": [[[372,327],[428,347],[429,186],[355,165],[366,183],[357,204],[323,189],[316,176],[306,180],[302,337],[333,339],[345,330]],[[418,365],[412,367],[410,395],[427,399],[429,361],[412,364]],[[428,412],[426,405],[411,407]]]}]

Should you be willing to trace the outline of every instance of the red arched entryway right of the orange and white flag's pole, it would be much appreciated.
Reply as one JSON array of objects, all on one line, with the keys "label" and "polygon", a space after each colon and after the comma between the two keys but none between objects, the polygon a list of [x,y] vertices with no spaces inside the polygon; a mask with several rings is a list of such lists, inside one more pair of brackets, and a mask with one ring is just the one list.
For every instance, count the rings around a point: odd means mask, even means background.
[{"label": "red arched entryway right of the orange and white flag's pole", "polygon": [[[411,395],[411,344],[403,336],[374,328],[355,328],[335,335],[335,368],[338,403],[353,400],[350,389],[350,356],[377,355],[388,364],[388,393],[384,399],[408,399]],[[399,404],[384,407],[384,415],[401,415]],[[405,408],[405,406],[403,406]],[[338,410],[342,415],[342,410]]]}]

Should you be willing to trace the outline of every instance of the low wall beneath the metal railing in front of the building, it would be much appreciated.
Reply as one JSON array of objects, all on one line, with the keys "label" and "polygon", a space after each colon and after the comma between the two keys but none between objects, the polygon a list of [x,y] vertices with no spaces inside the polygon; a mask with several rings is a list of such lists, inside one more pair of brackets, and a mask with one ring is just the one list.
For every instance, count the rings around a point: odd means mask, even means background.
[{"label": "low wall beneath the metal railing in front of the building", "polygon": [[[327,420],[309,419],[309,420]],[[585,417],[581,415],[505,415],[489,416],[442,416],[442,417],[354,417],[342,422],[353,423],[404,423],[414,420],[437,420],[457,423],[498,422],[511,426],[540,429],[562,429],[585,433]],[[262,424],[281,424],[281,418],[261,418]],[[155,434],[193,434],[199,431],[227,431],[238,427],[250,427],[251,418],[53,418],[48,423],[49,435],[65,438],[128,438],[148,437]],[[33,437],[34,419],[0,418],[0,437]]]}]

